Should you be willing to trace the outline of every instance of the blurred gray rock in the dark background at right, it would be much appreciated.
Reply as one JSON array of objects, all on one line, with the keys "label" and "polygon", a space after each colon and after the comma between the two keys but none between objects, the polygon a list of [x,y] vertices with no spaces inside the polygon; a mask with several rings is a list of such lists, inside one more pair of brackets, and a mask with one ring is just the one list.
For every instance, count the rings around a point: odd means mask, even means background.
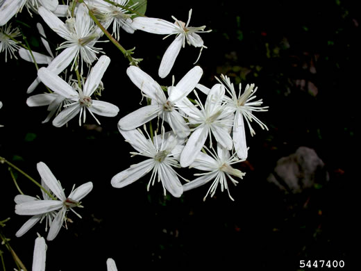
[{"label": "blurred gray rock in the dark background at right", "polygon": [[314,149],[299,147],[294,154],[280,158],[267,181],[286,193],[300,193],[328,181],[325,164]]}]

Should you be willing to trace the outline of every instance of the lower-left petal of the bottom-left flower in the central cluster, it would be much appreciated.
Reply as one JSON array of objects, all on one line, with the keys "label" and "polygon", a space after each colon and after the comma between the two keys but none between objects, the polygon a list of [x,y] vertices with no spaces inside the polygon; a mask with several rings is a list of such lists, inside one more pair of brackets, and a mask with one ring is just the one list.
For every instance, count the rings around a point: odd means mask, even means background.
[{"label": "lower-left petal of the bottom-left flower in the central cluster", "polygon": [[122,172],[119,172],[117,175],[113,176],[110,183],[112,183],[112,187],[123,188],[124,186],[128,186],[128,184],[131,184],[142,178],[142,176],[151,171],[153,167],[153,159],[148,159],[141,163],[131,165],[131,167],[129,167],[127,170],[123,170]]}]

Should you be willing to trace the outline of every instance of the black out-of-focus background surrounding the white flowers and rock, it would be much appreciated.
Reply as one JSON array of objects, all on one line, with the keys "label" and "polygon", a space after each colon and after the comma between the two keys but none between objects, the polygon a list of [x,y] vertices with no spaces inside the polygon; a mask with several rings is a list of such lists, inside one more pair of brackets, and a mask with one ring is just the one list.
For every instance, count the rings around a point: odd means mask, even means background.
[{"label": "black out-of-focus background surrounding the white flowers and rock", "polygon": [[[248,134],[249,158],[238,168],[246,176],[230,193],[216,192],[203,202],[209,186],[176,199],[162,195],[159,183],[146,191],[149,176],[131,186],[115,189],[112,176],[140,158],[130,158],[130,145],[117,131],[120,117],[140,105],[140,91],[126,76],[128,63],[110,43],[101,44],[111,58],[103,76],[101,97],[119,106],[117,117],[99,117],[101,126],[88,115],[78,126],[41,124],[46,108],[26,106],[26,88],[35,79],[35,68],[24,60],[8,60],[1,72],[0,156],[15,163],[40,181],[36,163],[43,161],[61,181],[68,195],[74,183],[94,183],[92,192],[71,212],[68,230],[48,242],[47,270],[105,270],[114,258],[118,270],[135,268],[205,268],[221,265],[228,270],[298,270],[300,260],[344,260],[355,266],[356,111],[358,110],[360,63],[360,13],[355,1],[149,1],[146,15],[171,20],[171,15],[190,26],[206,25],[211,33],[201,37],[203,49],[198,65],[203,85],[211,87],[215,76],[230,76],[237,87],[255,83],[258,98],[269,112],[256,116],[269,131],[253,125]],[[18,21],[35,51],[39,36],[34,31],[40,17],[26,10]],[[20,25],[15,22],[14,25]],[[45,24],[43,24],[45,25]],[[46,28],[51,40],[62,42]],[[140,67],[161,85],[171,85],[171,76],[158,78],[162,54],[174,36],[136,31],[123,33],[119,42],[136,47]],[[199,49],[186,44],[171,74],[176,82],[194,65]],[[3,57],[3,56],[2,56]],[[40,86],[35,93],[44,89]],[[314,149],[330,176],[327,183],[299,194],[279,191],[267,182],[276,161],[300,146]],[[179,173],[182,174],[182,170]],[[11,217],[1,229],[28,270],[31,269],[36,233],[46,236],[37,224],[21,238],[15,232],[27,220],[14,213],[17,190],[6,165],[0,167],[1,216]],[[187,171],[184,170],[185,176]],[[23,176],[19,186],[28,195],[40,191]],[[353,193],[354,191],[354,193]],[[15,265],[1,246],[10,270]],[[354,270],[354,269],[351,269]]]}]

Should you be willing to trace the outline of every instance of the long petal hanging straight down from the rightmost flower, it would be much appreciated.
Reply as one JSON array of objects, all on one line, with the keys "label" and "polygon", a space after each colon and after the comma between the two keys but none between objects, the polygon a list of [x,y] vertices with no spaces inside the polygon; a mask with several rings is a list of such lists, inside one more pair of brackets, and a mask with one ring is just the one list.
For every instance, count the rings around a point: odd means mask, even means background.
[{"label": "long petal hanging straight down from the rightmost flower", "polygon": [[240,110],[237,110],[235,113],[235,122],[233,124],[233,142],[237,156],[240,159],[246,159],[248,156],[246,131],[244,130],[244,120]]}]

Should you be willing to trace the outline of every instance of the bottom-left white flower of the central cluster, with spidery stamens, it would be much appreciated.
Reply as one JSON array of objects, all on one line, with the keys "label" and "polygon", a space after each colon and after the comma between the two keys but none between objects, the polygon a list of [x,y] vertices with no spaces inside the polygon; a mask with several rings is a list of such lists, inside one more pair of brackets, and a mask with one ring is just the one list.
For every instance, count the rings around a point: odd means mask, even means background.
[{"label": "bottom-left white flower of the central cluster, with spidery stamens", "polygon": [[153,142],[150,138],[146,139],[140,129],[131,131],[119,129],[119,131],[126,141],[138,151],[131,154],[139,154],[148,159],[131,165],[127,170],[113,176],[111,180],[112,186],[123,188],[151,171],[151,179],[147,186],[148,190],[151,184],[154,185],[156,179],[158,179],[158,182],[162,182],[165,194],[166,190],[168,190],[174,197],[181,197],[183,193],[182,184],[178,179],[178,174],[172,168],[179,167],[179,165],[176,159],[172,157],[171,151],[176,145],[181,145],[183,140],[176,138],[172,133],[162,133],[162,136],[155,136]]}]

